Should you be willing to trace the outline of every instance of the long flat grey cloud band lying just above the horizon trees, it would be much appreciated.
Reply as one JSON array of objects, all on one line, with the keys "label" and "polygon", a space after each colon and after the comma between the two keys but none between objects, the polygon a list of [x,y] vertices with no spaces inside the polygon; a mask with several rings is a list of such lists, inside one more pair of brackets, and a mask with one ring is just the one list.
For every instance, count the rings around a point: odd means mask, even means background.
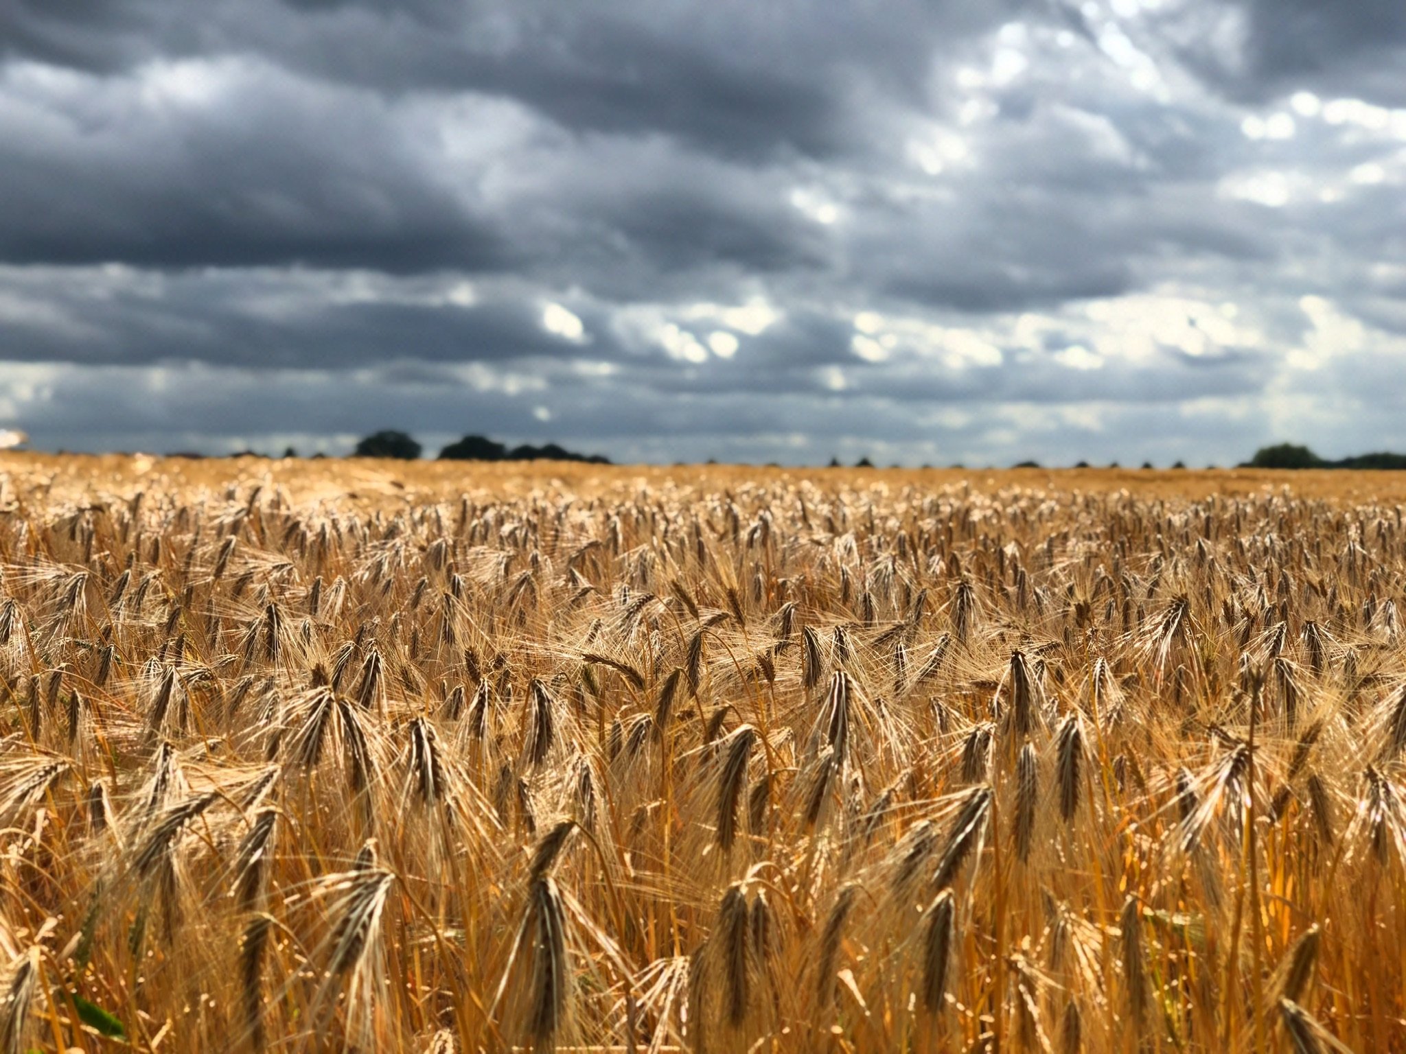
[{"label": "long flat grey cloud band lying just above the horizon trees", "polygon": [[[1243,399],[1232,395],[1211,396],[1189,415],[1177,401],[1129,405],[1118,392],[1098,398],[1071,389],[1063,402],[970,398],[914,412],[911,402],[863,391],[697,392],[665,401],[628,377],[582,381],[564,372],[543,389],[508,393],[494,384],[453,386],[422,371],[402,374],[395,365],[356,381],[322,371],[260,378],[181,367],[156,377],[150,370],[100,367],[53,375],[37,386],[42,395],[13,420],[51,448],[221,453],[292,443],[302,453],[318,447],[344,453],[368,429],[408,427],[432,451],[465,431],[486,431],[510,441],[555,438],[616,460],[817,464],[831,454],[846,461],[868,454],[880,464],[981,465],[1024,457],[1045,464],[1112,457],[1123,464],[1144,458],[1167,464],[1174,457],[1223,464],[1284,437],[1265,422],[1264,396],[1251,401],[1261,412],[1244,413],[1236,409]],[[550,420],[537,417],[541,406],[550,408]],[[1319,445],[1351,451],[1399,444],[1399,408],[1371,406]]]}]

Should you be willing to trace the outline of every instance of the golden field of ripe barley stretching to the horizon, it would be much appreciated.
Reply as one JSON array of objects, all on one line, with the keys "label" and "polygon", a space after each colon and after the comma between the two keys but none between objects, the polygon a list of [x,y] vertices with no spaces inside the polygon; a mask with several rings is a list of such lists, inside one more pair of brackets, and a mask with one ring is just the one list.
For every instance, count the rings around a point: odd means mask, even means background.
[{"label": "golden field of ripe barley stretching to the horizon", "polygon": [[1403,505],[0,455],[0,1054],[1406,1050]]}]

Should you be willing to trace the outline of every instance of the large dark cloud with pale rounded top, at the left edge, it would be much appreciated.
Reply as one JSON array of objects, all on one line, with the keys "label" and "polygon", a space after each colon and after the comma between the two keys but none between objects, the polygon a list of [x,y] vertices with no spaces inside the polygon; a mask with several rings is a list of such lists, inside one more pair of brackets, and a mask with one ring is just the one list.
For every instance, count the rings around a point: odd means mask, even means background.
[{"label": "large dark cloud with pale rounded top, at the left edge", "polygon": [[115,80],[8,70],[0,259],[153,267],[503,267],[491,219],[373,97],[260,63]]}]

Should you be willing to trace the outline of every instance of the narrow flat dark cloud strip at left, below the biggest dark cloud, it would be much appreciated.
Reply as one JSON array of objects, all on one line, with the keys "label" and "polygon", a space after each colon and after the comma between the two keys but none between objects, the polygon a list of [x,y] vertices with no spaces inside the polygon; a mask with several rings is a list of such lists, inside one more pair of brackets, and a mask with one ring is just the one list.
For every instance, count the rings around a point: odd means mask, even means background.
[{"label": "narrow flat dark cloud strip at left, below the biggest dark cloud", "polygon": [[[21,284],[31,304],[38,302],[34,287]],[[533,298],[505,292],[489,304],[460,304],[460,287],[444,280],[364,287],[326,271],[263,270],[142,281],[87,268],[44,288],[48,311],[38,319],[7,319],[0,309],[6,358],[359,370],[396,358],[501,363],[582,351],[543,329],[543,308]],[[605,358],[623,354],[605,337],[589,350]]]}]

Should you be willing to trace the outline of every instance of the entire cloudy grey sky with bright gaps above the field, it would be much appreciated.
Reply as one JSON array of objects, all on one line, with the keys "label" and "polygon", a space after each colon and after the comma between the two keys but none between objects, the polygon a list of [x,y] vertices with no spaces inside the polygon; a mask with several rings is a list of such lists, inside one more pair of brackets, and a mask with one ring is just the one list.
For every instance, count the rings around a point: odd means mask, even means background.
[{"label": "entire cloudy grey sky with bright gaps above the field", "polygon": [[0,0],[45,450],[1406,450],[1400,0]]}]

